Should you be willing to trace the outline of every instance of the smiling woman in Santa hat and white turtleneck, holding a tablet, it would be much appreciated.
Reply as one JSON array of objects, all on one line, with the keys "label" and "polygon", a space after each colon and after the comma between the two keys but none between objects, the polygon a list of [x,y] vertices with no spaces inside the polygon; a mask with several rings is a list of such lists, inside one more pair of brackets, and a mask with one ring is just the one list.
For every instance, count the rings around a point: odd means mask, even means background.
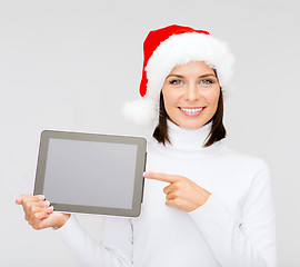
[{"label": "smiling woman in Santa hat and white turtleneck, holding a tablet", "polygon": [[87,266],[276,266],[270,176],[258,158],[222,144],[233,57],[208,32],[169,26],[144,41],[141,99],[124,113],[158,121],[149,141],[138,218],[106,217],[94,243],[43,196],[21,196],[36,228],[54,227]]}]

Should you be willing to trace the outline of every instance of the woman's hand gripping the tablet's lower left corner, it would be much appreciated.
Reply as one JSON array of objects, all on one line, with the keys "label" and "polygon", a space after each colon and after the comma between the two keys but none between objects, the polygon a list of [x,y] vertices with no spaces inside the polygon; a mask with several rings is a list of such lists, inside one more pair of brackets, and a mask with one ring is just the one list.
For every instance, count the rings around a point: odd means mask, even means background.
[{"label": "woman's hand gripping the tablet's lower left corner", "polygon": [[16,204],[22,205],[26,220],[36,230],[60,228],[70,218],[69,214],[53,212],[53,207],[44,200],[44,196],[22,195],[16,199]]}]

